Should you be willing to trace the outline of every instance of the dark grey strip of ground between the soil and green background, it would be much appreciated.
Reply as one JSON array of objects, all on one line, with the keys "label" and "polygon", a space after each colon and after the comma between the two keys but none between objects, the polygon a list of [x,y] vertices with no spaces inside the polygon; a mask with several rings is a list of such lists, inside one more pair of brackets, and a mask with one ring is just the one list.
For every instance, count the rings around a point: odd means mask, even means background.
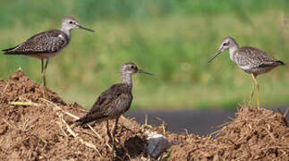
[{"label": "dark grey strip of ground between the soil and green background", "polygon": [[[281,107],[282,114],[286,107]],[[272,110],[277,111],[276,108]],[[217,125],[231,121],[235,117],[236,110],[183,110],[183,111],[156,111],[156,112],[128,112],[124,116],[135,117],[138,123],[144,123],[145,115],[148,114],[148,124],[159,125],[161,122],[157,117],[164,120],[168,125],[168,131],[184,132],[187,129],[189,133],[206,136],[212,131],[216,131]],[[289,120],[289,114],[286,116]],[[214,128],[215,127],[215,128]]]}]

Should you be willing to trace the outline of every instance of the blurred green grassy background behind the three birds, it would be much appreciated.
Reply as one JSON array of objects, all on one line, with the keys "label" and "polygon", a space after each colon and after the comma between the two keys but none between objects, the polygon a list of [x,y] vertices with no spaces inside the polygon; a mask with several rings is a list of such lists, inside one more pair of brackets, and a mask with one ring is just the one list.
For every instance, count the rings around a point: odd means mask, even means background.
[{"label": "blurred green grassy background behind the three birds", "polygon": [[[48,65],[47,86],[86,108],[121,81],[120,66],[129,61],[156,75],[134,76],[132,111],[246,104],[251,76],[231,62],[228,52],[208,64],[226,36],[289,64],[287,0],[1,0],[1,49],[59,29],[66,15],[97,32],[72,30],[70,45]],[[0,55],[1,79],[19,67],[41,82],[37,59]],[[287,66],[259,76],[261,105],[289,105],[288,82]]]}]

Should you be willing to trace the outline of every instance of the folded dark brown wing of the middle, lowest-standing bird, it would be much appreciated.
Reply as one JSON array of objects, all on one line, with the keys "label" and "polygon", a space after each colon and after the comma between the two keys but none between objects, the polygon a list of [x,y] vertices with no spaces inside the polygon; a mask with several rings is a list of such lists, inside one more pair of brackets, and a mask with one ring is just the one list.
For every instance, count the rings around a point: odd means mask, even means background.
[{"label": "folded dark brown wing of the middle, lowest-standing bird", "polygon": [[115,84],[104,91],[89,113],[77,122],[102,122],[125,113],[132,104],[132,90],[126,84]]}]

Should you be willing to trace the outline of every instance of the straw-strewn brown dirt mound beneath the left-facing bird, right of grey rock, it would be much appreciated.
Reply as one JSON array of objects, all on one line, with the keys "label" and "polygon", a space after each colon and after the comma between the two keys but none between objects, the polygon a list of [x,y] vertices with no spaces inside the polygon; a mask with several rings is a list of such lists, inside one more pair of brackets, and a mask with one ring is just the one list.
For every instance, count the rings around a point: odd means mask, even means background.
[{"label": "straw-strewn brown dirt mound beneath the left-facing bird, right of grey rock", "polygon": [[[288,160],[285,117],[267,109],[242,107],[233,122],[210,137],[183,137],[171,148],[173,160]],[[183,156],[177,153],[183,152]]]}]

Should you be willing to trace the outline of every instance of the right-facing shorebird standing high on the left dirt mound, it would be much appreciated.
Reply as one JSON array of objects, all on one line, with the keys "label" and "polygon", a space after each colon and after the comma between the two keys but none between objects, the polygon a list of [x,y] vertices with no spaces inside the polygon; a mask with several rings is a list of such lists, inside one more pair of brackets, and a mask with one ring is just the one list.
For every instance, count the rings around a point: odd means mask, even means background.
[{"label": "right-facing shorebird standing high on the left dirt mound", "polygon": [[[94,32],[80,25],[72,16],[64,17],[60,30],[47,30],[27,39],[20,45],[4,49],[4,55],[29,55],[41,60],[41,77],[44,86],[44,96],[47,97],[45,72],[51,57],[57,55],[66,47],[71,38],[72,29],[82,29]],[[44,61],[46,59],[46,63]]]}]

